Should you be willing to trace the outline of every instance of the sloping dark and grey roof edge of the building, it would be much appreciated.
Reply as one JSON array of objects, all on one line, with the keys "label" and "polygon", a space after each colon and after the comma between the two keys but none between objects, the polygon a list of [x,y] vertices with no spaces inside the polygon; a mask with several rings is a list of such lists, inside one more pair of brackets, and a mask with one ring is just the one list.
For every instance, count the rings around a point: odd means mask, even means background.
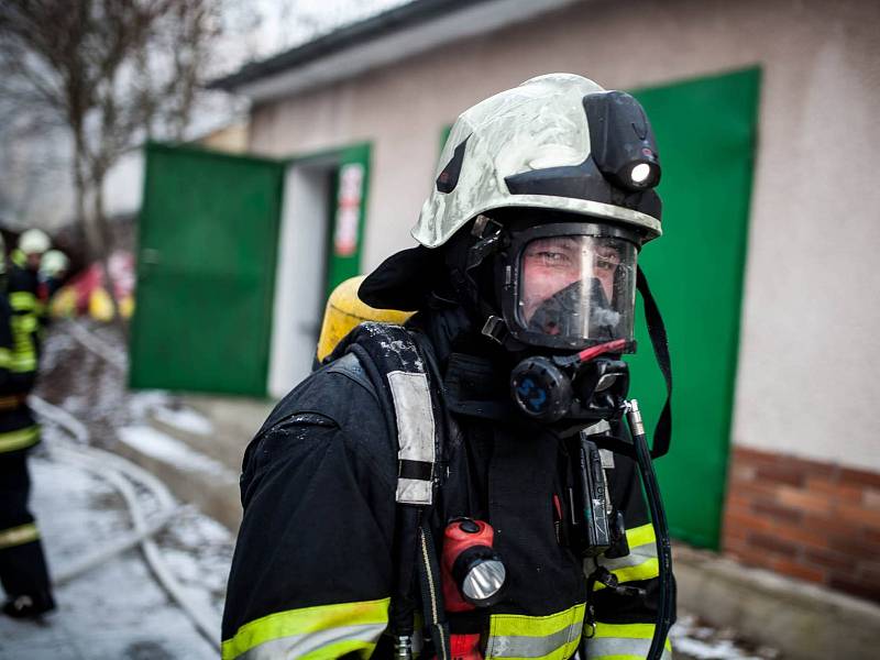
[{"label": "sloping dark and grey roof edge of the building", "polygon": [[255,101],[349,78],[579,0],[414,0],[209,84]]}]

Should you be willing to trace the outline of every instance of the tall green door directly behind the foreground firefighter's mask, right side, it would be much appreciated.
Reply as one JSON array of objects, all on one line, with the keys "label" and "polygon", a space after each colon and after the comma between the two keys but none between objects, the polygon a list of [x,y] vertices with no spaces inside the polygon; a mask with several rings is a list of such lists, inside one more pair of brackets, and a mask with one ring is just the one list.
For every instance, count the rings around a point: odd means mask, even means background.
[{"label": "tall green door directly behind the foreground firefighter's mask, right side", "polygon": [[[640,258],[670,338],[672,449],[657,463],[673,536],[717,548],[739,344],[760,72],[645,89],[664,235]],[[630,393],[653,421],[666,389],[644,323]]]}]

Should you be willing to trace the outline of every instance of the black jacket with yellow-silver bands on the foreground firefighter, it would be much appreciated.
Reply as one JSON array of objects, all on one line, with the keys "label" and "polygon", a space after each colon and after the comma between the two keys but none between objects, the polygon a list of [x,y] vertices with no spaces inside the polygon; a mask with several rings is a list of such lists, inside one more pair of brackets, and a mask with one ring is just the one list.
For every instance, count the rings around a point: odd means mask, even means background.
[{"label": "black jacket with yellow-silver bands on the foreground firefighter", "polygon": [[[504,598],[449,616],[453,635],[480,632],[492,658],[569,658],[595,622],[587,657],[644,657],[657,602],[657,554],[632,464],[615,457],[612,498],[625,512],[628,557],[598,562],[620,582],[588,594],[570,549],[572,466],[565,442],[509,403],[509,358],[475,336],[460,310],[413,323],[432,352],[451,424],[446,475],[429,522],[441,551],[448,520],[490,522],[508,571]],[[388,606],[397,566],[397,447],[354,355],[295,388],[251,442],[241,477],[244,519],[223,615],[223,658],[389,657]],[[315,653],[314,656],[311,653]]]}]

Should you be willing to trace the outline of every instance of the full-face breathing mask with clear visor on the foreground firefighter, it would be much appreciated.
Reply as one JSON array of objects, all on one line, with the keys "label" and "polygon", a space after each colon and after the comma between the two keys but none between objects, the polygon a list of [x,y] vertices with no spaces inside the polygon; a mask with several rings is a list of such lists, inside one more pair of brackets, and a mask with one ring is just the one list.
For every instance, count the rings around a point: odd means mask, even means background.
[{"label": "full-face breathing mask with clear visor on the foreground firefighter", "polygon": [[510,215],[477,218],[469,265],[492,254],[502,314],[483,334],[524,355],[510,373],[514,402],[544,424],[619,417],[629,388],[620,355],[636,350],[638,234],[560,213]]}]

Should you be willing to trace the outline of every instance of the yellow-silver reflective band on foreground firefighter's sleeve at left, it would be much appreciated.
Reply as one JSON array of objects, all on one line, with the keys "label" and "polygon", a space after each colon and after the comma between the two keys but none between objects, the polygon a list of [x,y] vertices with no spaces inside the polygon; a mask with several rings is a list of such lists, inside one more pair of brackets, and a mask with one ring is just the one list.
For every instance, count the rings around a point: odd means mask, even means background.
[{"label": "yellow-silver reflective band on foreground firefighter's sleeve at left", "polygon": [[339,656],[359,651],[369,658],[387,626],[389,603],[391,598],[382,598],[270,614],[244,624],[223,641],[223,660],[244,653],[249,658],[336,658],[336,651]]}]

